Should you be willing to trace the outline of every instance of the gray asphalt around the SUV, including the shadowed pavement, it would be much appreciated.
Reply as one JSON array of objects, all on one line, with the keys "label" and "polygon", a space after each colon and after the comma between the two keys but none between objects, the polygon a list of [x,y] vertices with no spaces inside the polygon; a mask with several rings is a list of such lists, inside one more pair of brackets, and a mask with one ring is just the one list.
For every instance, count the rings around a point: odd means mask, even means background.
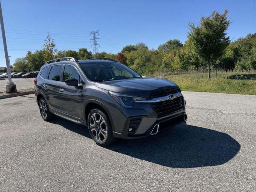
[{"label": "gray asphalt around the SUV, including the shadowed pavement", "polygon": [[0,100],[0,190],[255,191],[256,96],[183,94],[187,124],[107,148],[34,95]]}]

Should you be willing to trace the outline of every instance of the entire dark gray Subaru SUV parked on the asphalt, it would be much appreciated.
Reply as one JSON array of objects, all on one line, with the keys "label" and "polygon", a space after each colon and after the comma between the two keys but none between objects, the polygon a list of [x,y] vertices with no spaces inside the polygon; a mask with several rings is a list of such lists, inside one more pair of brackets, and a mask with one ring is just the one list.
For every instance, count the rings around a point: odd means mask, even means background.
[{"label": "entire dark gray Subaru SUV parked on the asphalt", "polygon": [[50,60],[34,83],[45,121],[56,115],[88,126],[100,146],[155,135],[187,120],[174,82],[143,77],[110,58]]}]

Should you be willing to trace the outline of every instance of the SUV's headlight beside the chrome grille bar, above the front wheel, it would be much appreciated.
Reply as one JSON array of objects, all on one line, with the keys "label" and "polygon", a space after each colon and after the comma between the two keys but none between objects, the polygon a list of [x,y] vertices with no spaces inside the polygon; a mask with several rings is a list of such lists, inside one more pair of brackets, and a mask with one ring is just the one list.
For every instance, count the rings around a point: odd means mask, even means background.
[{"label": "SUV's headlight beside the chrome grille bar, above the front wheel", "polygon": [[112,96],[112,98],[118,102],[120,105],[126,108],[132,108],[133,102],[137,100],[145,100],[145,98],[142,97],[136,97],[136,96],[130,96],[130,95],[124,95],[121,93],[116,93],[109,91],[109,94]]}]

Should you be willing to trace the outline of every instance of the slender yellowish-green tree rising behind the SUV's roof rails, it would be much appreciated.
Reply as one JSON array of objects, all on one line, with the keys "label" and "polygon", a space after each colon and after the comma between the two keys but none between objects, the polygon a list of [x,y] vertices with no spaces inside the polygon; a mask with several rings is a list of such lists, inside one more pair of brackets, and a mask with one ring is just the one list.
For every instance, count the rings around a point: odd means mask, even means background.
[{"label": "slender yellowish-green tree rising behind the SUV's roof rails", "polygon": [[43,52],[44,52],[44,62],[56,58],[56,53],[58,49],[55,48],[54,39],[48,34],[44,40]]}]

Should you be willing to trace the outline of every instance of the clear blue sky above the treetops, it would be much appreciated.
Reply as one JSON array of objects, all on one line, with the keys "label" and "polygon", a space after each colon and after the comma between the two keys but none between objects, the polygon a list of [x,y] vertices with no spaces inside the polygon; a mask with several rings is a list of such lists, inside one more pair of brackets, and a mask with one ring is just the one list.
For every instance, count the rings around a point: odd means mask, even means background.
[{"label": "clear blue sky above the treetops", "polygon": [[[13,64],[28,50],[42,48],[47,32],[58,50],[92,51],[90,31],[100,30],[99,51],[117,53],[144,42],[157,49],[170,39],[187,39],[188,22],[200,22],[213,10],[229,11],[228,35],[236,40],[256,32],[256,1],[69,1],[1,0],[8,54]],[[0,66],[6,66],[2,35]]]}]

